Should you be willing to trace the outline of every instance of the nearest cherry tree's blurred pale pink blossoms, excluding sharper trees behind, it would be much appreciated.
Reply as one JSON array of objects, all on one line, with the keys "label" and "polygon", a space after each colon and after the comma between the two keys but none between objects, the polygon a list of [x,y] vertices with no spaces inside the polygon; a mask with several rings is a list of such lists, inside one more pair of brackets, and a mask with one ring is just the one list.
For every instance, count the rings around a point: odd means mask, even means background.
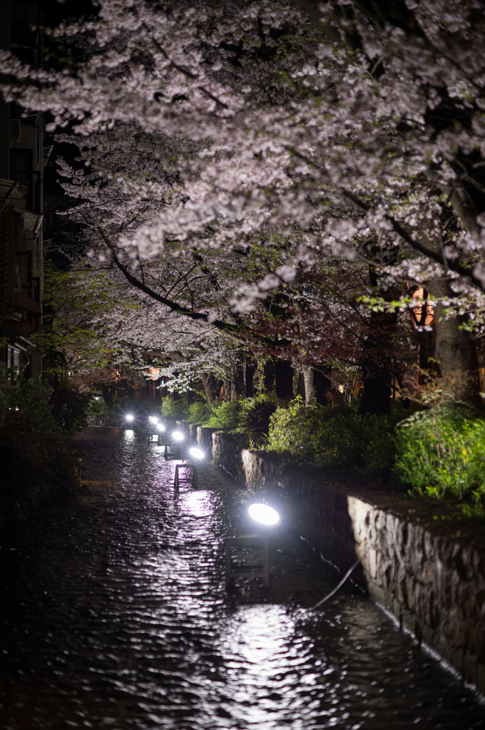
[{"label": "nearest cherry tree's blurred pale pink blossoms, excluding sharper trees behind", "polygon": [[[367,267],[370,310],[420,306],[412,291],[424,288],[442,369],[476,376],[484,28],[483,4],[465,0],[102,0],[95,20],[53,31],[82,50],[75,69],[28,69],[7,53],[1,69],[17,79],[7,99],[71,125],[86,149],[131,125],[157,140],[153,177],[127,158],[115,178],[141,218],[115,239],[99,231],[93,253],[126,268],[123,252],[141,273],[160,256],[252,261],[264,247],[272,266],[233,281],[239,316],[324,261]],[[473,398],[478,383],[463,383]]]}]

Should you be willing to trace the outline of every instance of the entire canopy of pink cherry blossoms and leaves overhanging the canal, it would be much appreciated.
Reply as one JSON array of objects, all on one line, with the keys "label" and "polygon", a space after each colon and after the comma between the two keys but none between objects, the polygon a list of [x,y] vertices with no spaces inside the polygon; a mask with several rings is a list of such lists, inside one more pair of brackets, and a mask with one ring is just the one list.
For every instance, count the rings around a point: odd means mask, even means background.
[{"label": "entire canopy of pink cherry blossoms and leaves overhanging the canal", "polygon": [[7,101],[79,133],[58,137],[79,148],[60,161],[69,218],[93,286],[136,291],[129,346],[199,350],[193,372],[216,372],[221,340],[259,339],[256,315],[283,293],[271,334],[295,357],[400,360],[399,379],[409,284],[483,331],[480,4],[176,5],[100,0],[95,19],[45,31],[75,50],[69,69],[0,58]]}]

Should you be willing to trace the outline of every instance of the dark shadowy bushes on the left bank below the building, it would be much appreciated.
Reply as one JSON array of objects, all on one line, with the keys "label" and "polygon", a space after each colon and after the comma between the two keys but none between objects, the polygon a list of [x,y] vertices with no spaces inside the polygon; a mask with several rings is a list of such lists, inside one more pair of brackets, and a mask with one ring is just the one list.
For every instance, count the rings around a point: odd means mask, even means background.
[{"label": "dark shadowy bushes on the left bank below the building", "polygon": [[[49,407],[52,388],[41,380],[18,380],[4,392],[0,426],[0,529],[25,518],[43,500],[80,485],[80,458],[68,429]],[[68,404],[61,420],[68,418]],[[75,410],[72,410],[74,413]]]}]

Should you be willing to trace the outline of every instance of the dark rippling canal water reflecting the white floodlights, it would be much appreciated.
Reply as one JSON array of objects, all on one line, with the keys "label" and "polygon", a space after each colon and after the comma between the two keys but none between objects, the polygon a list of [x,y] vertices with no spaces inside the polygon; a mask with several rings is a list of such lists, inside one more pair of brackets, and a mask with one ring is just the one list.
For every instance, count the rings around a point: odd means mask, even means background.
[{"label": "dark rippling canal water reflecting the white floodlights", "polygon": [[[50,506],[1,550],[0,727],[485,728],[485,706],[283,529],[272,586],[224,584],[248,495],[206,464],[92,429],[91,493]],[[249,556],[247,559],[250,559]]]}]

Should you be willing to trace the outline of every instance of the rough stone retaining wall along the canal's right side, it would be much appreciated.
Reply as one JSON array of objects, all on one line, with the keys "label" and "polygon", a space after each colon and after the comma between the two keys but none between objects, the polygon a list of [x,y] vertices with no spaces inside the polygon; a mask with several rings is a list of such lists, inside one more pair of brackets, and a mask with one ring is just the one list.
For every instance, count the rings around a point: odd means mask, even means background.
[{"label": "rough stone retaining wall along the canal's right side", "polygon": [[467,681],[485,692],[485,548],[418,517],[397,493],[345,488],[324,474],[284,468],[240,439],[213,434],[213,455],[229,474],[283,510],[322,558],[355,580]]}]

